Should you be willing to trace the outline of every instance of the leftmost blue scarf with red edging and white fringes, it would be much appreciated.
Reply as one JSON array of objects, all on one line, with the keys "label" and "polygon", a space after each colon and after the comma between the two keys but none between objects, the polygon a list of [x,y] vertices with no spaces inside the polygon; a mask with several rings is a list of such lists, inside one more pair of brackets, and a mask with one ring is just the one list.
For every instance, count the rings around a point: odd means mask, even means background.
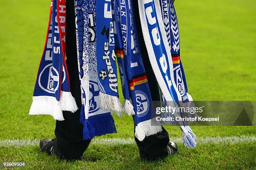
[{"label": "leftmost blue scarf with red edging and white fringes", "polygon": [[75,112],[78,108],[69,88],[65,62],[66,3],[51,1],[48,30],[38,68],[30,115],[51,115],[64,120],[62,110]]}]

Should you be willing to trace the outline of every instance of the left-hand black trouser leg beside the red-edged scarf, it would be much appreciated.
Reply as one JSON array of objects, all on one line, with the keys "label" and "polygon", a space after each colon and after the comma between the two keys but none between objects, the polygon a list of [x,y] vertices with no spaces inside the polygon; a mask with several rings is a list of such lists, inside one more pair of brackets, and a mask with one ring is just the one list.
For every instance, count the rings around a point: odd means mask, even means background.
[{"label": "left-hand black trouser leg beside the red-edged scarf", "polygon": [[[83,125],[79,122],[81,108],[81,90],[77,65],[77,45],[75,34],[74,0],[67,0],[67,70],[69,72],[70,90],[79,110],[76,112],[63,111],[64,121],[56,121],[55,135],[56,150],[60,158],[79,159],[90,140],[83,140]],[[54,148],[55,150],[55,148]]]}]

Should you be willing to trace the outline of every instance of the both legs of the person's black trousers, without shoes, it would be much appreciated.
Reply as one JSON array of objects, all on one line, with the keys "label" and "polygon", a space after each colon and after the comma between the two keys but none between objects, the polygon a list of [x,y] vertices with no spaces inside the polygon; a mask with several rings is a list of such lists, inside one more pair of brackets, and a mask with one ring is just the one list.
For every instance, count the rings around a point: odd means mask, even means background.
[{"label": "both legs of the person's black trousers, without shoes", "polygon": [[[134,11],[138,11],[138,0],[134,0]],[[136,25],[138,29],[138,36],[140,40],[141,50],[146,50],[146,45],[143,40],[141,23],[138,12],[136,15]],[[67,69],[70,78],[70,88],[73,97],[77,102],[77,106],[81,108],[81,91],[77,66],[77,46],[75,34],[75,13],[74,0],[67,0]],[[159,101],[159,89],[157,85],[154,72],[151,68],[148,56],[145,52],[142,54],[142,59],[146,74],[148,77],[148,84],[151,91],[152,100]],[[67,160],[79,159],[86,148],[90,144],[90,140],[83,140],[83,126],[79,123],[80,109],[72,113],[63,111],[64,121],[56,121],[54,142],[54,150],[60,158]],[[142,158],[147,160],[155,160],[167,155],[167,144],[169,143],[169,135],[163,128],[161,133],[146,137],[143,141],[135,138],[136,144]]]}]

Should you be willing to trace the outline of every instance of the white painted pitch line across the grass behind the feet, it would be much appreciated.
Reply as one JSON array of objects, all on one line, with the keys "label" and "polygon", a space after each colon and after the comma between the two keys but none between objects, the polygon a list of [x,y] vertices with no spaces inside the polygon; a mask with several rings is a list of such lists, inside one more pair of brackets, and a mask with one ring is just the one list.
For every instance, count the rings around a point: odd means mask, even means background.
[{"label": "white painted pitch line across the grass behind the feet", "polygon": [[[182,143],[182,139],[179,138],[171,138],[170,140],[174,140],[177,143]],[[205,144],[205,143],[251,143],[256,141],[256,136],[230,136],[230,137],[206,137],[206,138],[197,138],[196,142],[198,145]],[[96,138],[93,139],[91,142],[92,145],[133,145],[135,144],[134,138]],[[0,147],[1,146],[13,146],[13,147],[20,147],[20,146],[35,146],[39,145],[39,140],[0,140]]]}]

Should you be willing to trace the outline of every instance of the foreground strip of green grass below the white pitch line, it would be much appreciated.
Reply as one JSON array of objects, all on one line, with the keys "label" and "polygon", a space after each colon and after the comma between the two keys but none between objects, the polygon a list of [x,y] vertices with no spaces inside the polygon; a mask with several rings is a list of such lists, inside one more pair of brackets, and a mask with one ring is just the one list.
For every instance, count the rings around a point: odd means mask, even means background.
[{"label": "foreground strip of green grass below the white pitch line", "polygon": [[[200,145],[193,150],[180,147],[179,155],[146,162],[141,160],[135,145],[101,146],[90,145],[83,161],[69,163],[57,157],[49,157],[38,151],[38,147],[0,148],[3,161],[27,162],[28,169],[97,169],[97,170],[171,170],[171,169],[253,169],[255,165],[255,144]],[[243,149],[241,149],[243,148]],[[203,154],[202,154],[203,153]]]}]

